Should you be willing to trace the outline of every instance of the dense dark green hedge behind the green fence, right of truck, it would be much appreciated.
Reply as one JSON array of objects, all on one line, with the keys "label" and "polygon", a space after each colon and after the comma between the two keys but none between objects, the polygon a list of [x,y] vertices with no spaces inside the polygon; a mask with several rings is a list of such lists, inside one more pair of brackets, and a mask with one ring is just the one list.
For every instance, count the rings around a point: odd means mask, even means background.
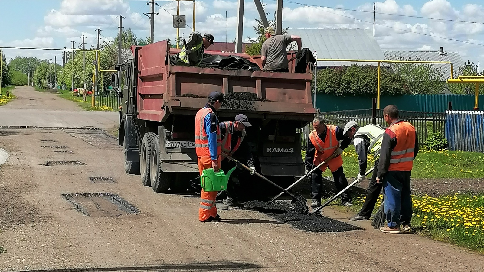
[{"label": "dense dark green hedge behind the green fence, right of truck", "polygon": [[[318,70],[318,92],[336,96],[375,96],[378,70],[372,65],[340,66]],[[409,94],[411,90],[402,76],[389,68],[380,69],[380,94]]]}]

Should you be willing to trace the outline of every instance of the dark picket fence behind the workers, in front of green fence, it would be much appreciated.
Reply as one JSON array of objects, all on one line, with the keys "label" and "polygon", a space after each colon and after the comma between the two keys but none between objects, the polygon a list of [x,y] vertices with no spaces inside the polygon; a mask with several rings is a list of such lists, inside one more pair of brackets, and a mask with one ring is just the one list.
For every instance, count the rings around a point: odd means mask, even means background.
[{"label": "dark picket fence behind the workers, in front of green fence", "polygon": [[[384,128],[388,124],[383,119],[383,109],[359,109],[346,111],[321,112],[326,123],[345,127],[349,121],[355,121],[360,126],[370,123],[380,124]],[[443,112],[418,112],[418,111],[399,111],[401,119],[410,122],[417,131],[419,143],[427,140],[428,133],[440,132],[445,136],[445,113]],[[302,144],[307,144],[307,136],[311,132],[311,124],[302,128]]]}]

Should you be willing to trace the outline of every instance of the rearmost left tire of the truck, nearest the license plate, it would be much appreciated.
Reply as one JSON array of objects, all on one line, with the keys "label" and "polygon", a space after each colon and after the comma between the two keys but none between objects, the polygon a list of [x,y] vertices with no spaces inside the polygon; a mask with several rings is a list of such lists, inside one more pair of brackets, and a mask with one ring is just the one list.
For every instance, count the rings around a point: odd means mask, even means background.
[{"label": "rearmost left tire of the truck, nearest the license plate", "polygon": [[157,135],[151,145],[150,178],[151,188],[156,193],[167,193],[173,180],[173,173],[163,172],[160,165],[160,137]]}]

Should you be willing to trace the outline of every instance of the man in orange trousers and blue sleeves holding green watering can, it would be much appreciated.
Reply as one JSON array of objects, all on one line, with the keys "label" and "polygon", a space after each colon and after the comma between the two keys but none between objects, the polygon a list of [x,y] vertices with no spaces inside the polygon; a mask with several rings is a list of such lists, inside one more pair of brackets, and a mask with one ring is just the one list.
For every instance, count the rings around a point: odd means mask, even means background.
[{"label": "man in orange trousers and blue sleeves holding green watering can", "polygon": [[[197,152],[200,175],[204,169],[213,168],[215,172],[218,172],[220,169],[222,139],[215,111],[224,102],[224,94],[213,91],[209,95],[207,105],[200,109],[195,116],[195,151]],[[217,214],[217,208],[215,207],[216,197],[216,191],[205,192],[202,189],[198,220],[202,222],[220,221],[220,215]]]}]

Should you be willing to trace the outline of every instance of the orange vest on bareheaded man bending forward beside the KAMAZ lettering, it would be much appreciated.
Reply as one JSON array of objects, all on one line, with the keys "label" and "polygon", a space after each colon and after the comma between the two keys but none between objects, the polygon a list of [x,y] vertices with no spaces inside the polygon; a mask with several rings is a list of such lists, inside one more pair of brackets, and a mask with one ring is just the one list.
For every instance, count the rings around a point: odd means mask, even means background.
[{"label": "orange vest on bareheaded man bending forward beside the KAMAZ lettering", "polygon": [[[313,161],[315,166],[318,166],[320,163],[324,162],[327,158],[333,155],[336,149],[339,148],[339,141],[336,139],[336,128],[337,126],[326,125],[327,131],[324,142],[319,138],[316,130],[313,130],[311,134],[309,134],[309,140],[316,148]],[[330,168],[331,172],[334,172],[338,170],[339,167],[343,166],[343,158],[338,155],[328,161],[327,164],[319,167],[319,169],[324,172],[326,171],[327,166]]]}]

